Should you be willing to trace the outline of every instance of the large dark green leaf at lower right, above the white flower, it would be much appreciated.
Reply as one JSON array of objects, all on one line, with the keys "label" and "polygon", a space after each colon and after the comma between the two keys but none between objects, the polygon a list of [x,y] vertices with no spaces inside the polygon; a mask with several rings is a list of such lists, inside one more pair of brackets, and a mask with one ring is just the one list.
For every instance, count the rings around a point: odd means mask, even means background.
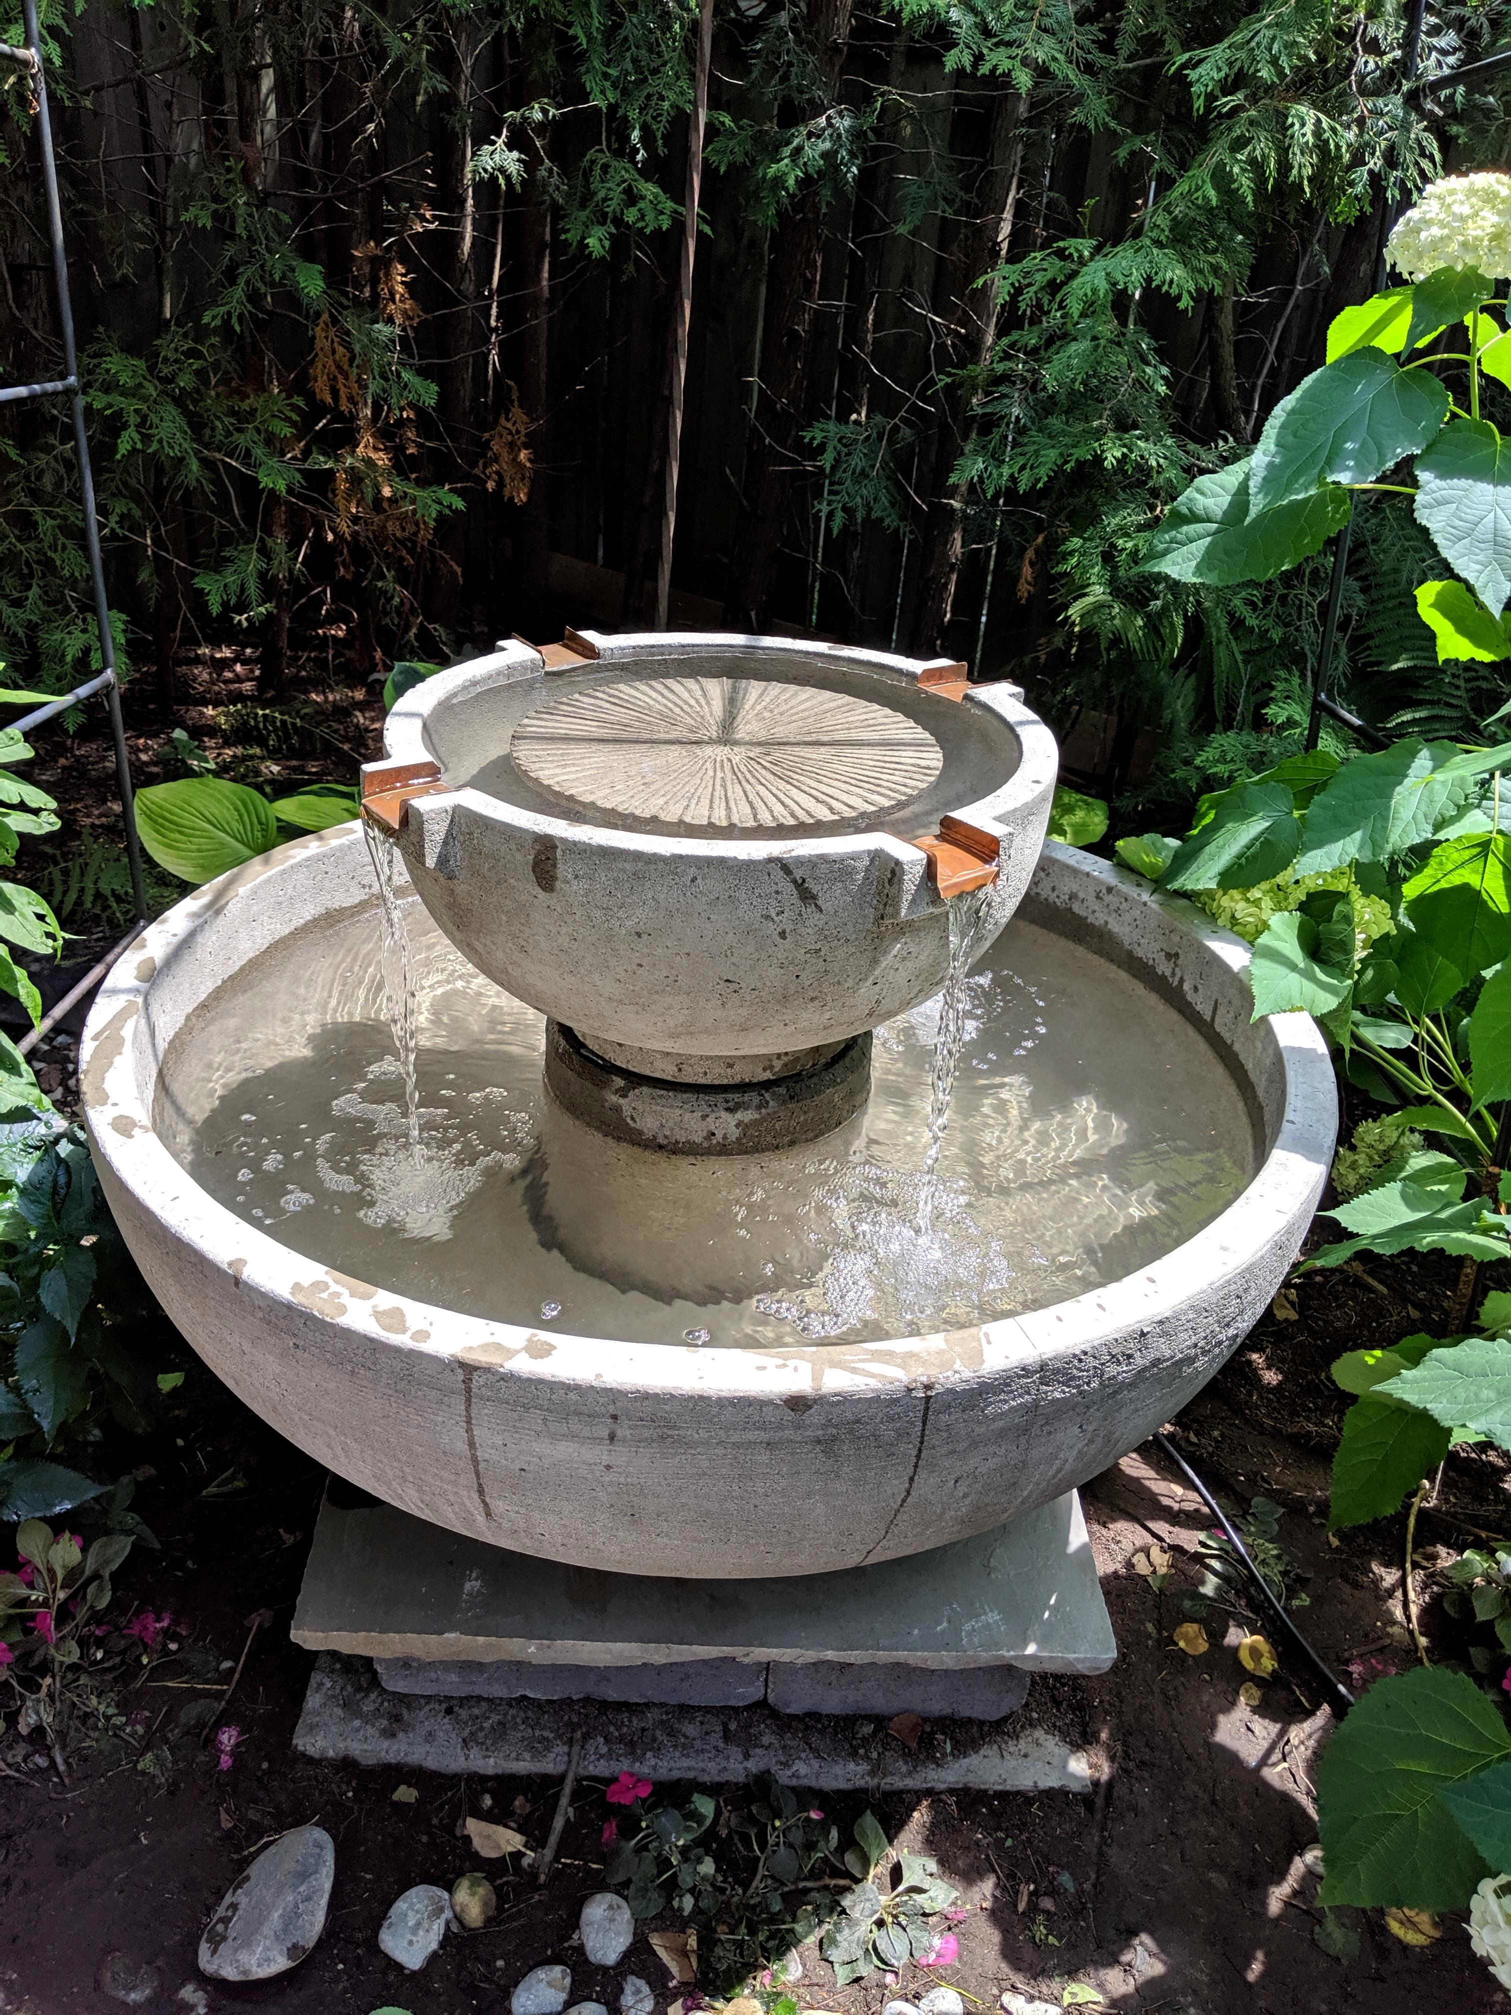
[{"label": "large dark green leaf at lower right, above the white flower", "polygon": [[1320,1900],[1463,1910],[1487,1870],[1440,1793],[1509,1753],[1499,1707],[1463,1672],[1370,1687],[1322,1757]]}]

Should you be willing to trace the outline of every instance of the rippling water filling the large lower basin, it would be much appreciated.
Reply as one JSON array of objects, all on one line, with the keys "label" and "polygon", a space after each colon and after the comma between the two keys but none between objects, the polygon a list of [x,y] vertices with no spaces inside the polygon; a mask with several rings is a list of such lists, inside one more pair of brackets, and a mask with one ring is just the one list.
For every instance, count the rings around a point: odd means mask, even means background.
[{"label": "rippling water filling the large lower basin", "polygon": [[782,1155],[604,1140],[546,1094],[542,1018],[403,905],[421,1147],[383,1010],[377,905],[222,985],[153,1124],[280,1243],[395,1296],[540,1330],[780,1348],[961,1328],[1146,1265],[1251,1179],[1239,1090],[1140,981],[1015,919],[965,983],[933,1177],[939,1001],[874,1036],[864,1114]]}]

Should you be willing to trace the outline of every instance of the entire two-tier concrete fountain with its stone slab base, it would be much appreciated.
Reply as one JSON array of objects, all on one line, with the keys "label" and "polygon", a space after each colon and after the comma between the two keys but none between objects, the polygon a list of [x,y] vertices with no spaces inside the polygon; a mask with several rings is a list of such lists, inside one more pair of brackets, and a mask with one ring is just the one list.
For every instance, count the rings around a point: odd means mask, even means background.
[{"label": "entire two-tier concrete fountain with its stone slab base", "polygon": [[[385,748],[387,963],[334,828],[153,925],[83,1060],[149,1284],[342,1479],[294,1634],[393,1691],[330,1666],[302,1741],[536,1769],[530,1701],[681,1701],[602,1709],[592,1761],[673,1773],[743,1703],[741,1769],[864,1783],[774,1709],[991,1717],[1108,1664],[1074,1491],[1293,1259],[1314,1026],[1044,846],[1054,742],[957,665],[568,633]],[[508,1733],[421,1741],[405,1693],[508,1695]],[[987,1749],[957,1781],[1074,1781]]]}]

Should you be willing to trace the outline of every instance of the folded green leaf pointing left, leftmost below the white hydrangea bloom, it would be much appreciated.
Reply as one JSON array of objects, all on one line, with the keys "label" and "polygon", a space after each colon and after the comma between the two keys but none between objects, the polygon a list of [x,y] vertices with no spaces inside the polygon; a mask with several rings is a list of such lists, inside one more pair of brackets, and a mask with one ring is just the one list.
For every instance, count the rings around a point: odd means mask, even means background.
[{"label": "folded green leaf pointing left, leftmost below the white hydrangea bloom", "polygon": [[1326,544],[1348,524],[1350,512],[1348,492],[1336,488],[1273,510],[1253,510],[1249,463],[1235,461],[1213,476],[1199,476],[1175,500],[1148,542],[1140,570],[1207,586],[1269,580]]}]

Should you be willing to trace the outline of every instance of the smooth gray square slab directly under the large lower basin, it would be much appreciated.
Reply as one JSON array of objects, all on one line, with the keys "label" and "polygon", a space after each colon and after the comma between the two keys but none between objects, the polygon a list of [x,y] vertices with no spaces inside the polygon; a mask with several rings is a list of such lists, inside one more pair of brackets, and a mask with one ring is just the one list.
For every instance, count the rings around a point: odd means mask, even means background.
[{"label": "smooth gray square slab directly under the large lower basin", "polygon": [[546,1666],[733,1658],[1104,1672],[1116,1654],[1074,1491],[907,1560],[683,1582],[508,1554],[332,1485],[292,1636],[367,1658]]}]

